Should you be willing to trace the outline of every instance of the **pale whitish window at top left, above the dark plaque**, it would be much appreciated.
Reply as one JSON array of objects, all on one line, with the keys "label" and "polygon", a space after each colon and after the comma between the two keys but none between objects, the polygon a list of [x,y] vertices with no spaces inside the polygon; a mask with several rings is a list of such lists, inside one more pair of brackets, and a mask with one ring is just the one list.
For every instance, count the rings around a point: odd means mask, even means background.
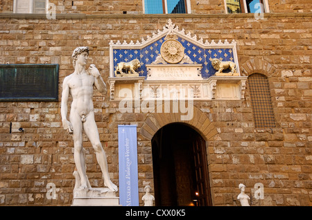
[{"label": "pale whitish window at top left, above the dark plaque", "polygon": [[15,0],[13,12],[21,14],[45,14],[48,1],[49,0]]}]

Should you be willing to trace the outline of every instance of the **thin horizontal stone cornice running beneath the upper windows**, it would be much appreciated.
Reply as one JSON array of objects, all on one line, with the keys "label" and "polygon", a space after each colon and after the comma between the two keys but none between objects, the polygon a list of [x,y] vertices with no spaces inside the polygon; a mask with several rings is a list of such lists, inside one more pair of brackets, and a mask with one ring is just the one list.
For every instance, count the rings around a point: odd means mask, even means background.
[{"label": "thin horizontal stone cornice running beneath the upper windows", "polygon": [[[285,12],[285,13],[265,13],[264,18],[303,18],[303,17],[312,17],[312,12]],[[196,18],[254,18],[254,14],[166,14],[166,15],[123,15],[123,14],[114,14],[114,15],[85,15],[77,13],[67,13],[67,14],[56,14],[56,19],[175,19],[175,18],[184,18],[184,19],[196,19]],[[13,13],[0,13],[0,19],[46,19],[45,14],[13,14]]]}]

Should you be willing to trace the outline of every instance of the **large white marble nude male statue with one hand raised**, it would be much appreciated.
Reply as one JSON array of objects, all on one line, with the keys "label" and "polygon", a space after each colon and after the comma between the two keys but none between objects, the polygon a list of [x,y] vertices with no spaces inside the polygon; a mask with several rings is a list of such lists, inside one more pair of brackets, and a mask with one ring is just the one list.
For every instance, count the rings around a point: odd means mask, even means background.
[{"label": "large white marble nude male statue with one hand raised", "polygon": [[[73,134],[74,153],[73,157],[78,171],[80,183],[76,186],[80,189],[91,188],[86,174],[85,156],[83,154],[83,130],[92,143],[96,159],[103,173],[104,185],[112,191],[118,188],[110,180],[107,167],[107,158],[101,145],[98,128],[94,120],[94,106],[92,102],[94,86],[101,93],[106,93],[106,84],[100,72],[94,64],[86,70],[89,48],[80,46],[73,51],[73,67],[75,71],[64,78],[62,84],[61,115],[64,129]],[[72,97],[69,120],[67,120],[67,102],[69,94]]]}]

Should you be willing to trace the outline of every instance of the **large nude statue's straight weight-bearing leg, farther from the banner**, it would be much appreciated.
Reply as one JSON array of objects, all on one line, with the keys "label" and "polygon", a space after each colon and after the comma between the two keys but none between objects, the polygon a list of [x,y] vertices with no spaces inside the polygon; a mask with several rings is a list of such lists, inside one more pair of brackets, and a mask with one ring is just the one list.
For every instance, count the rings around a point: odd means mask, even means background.
[{"label": "large nude statue's straight weight-bearing leg, farther from the banner", "polygon": [[80,176],[80,188],[88,188],[85,156],[83,155],[83,123],[78,113],[71,113],[69,118],[73,125],[73,158]]}]

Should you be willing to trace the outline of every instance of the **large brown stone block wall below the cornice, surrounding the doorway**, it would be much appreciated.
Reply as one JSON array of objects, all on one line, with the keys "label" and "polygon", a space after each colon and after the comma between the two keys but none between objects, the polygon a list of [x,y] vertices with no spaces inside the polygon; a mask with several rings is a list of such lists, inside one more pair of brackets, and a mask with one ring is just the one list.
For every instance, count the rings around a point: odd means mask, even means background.
[{"label": "large brown stone block wall below the cornice, surrounding the doorway", "polygon": [[[89,64],[96,64],[106,81],[110,40],[136,42],[162,29],[168,18],[204,40],[235,39],[242,75],[268,76],[277,127],[254,129],[248,88],[245,100],[194,102],[196,117],[209,119],[187,123],[207,140],[213,204],[240,205],[238,185],[244,183],[252,205],[312,205],[311,17],[311,13],[273,13],[263,20],[253,15],[64,15],[48,20],[3,15],[0,63],[60,64],[60,94],[64,77],[73,72],[70,57],[76,46],[91,48]],[[151,113],[120,113],[118,104],[95,91],[96,122],[117,185],[117,125],[138,126],[141,198],[146,183],[153,187],[153,129],[176,117],[164,115],[168,119],[161,123]],[[89,180],[92,186],[103,187],[87,136],[83,145]],[[0,152],[0,205],[71,204],[73,142],[62,129],[60,102],[0,102]],[[48,183],[55,184],[56,199],[46,196]],[[254,199],[255,183],[264,186],[263,200]]]}]

